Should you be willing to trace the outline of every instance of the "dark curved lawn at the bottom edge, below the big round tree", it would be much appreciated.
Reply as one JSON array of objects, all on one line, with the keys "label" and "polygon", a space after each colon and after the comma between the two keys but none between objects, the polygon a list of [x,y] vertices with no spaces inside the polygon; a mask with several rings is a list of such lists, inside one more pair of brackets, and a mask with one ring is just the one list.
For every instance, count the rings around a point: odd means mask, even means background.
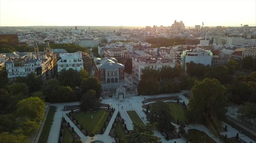
[{"label": "dark curved lawn at the bottom edge, below the big round tree", "polygon": [[205,132],[201,132],[197,129],[189,129],[188,132],[192,140],[195,140],[198,143],[216,143]]}]

